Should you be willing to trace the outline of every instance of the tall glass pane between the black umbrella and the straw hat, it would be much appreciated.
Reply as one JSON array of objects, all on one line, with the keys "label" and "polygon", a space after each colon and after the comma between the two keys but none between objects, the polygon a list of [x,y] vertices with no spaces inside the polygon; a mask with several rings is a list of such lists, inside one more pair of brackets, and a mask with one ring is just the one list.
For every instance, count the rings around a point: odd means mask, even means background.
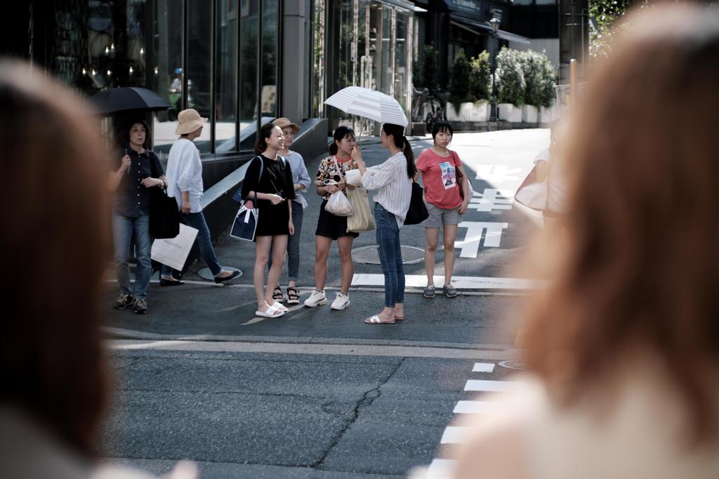
[{"label": "tall glass pane between the black umbrella and the straw hat", "polygon": [[177,139],[177,114],[183,109],[183,9],[182,3],[174,0],[155,2],[155,25],[153,34],[157,50],[152,71],[152,90],[168,99],[168,111],[155,112],[152,127],[153,149],[158,154],[167,153]]}]

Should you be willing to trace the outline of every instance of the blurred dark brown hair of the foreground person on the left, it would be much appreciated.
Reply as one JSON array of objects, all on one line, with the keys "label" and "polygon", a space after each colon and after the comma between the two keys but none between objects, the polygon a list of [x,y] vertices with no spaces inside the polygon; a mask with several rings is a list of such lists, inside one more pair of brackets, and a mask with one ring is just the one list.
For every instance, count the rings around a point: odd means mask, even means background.
[{"label": "blurred dark brown hair of the foreground person on the left", "polygon": [[107,174],[85,101],[42,70],[0,61],[6,308],[0,402],[91,454],[106,399],[98,295]]}]

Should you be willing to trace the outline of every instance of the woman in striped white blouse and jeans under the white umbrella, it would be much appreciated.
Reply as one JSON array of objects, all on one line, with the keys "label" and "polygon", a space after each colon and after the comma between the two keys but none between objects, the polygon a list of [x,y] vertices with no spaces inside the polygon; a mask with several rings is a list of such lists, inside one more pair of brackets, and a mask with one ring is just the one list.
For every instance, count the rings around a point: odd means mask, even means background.
[{"label": "woman in striped white blouse and jeans under the white umbrella", "polygon": [[412,197],[412,178],[417,173],[414,154],[404,128],[385,123],[380,133],[382,147],[390,150],[383,164],[367,168],[359,147],[352,149],[352,158],[362,174],[362,187],[377,190],[375,221],[380,264],[385,274],[385,307],[365,319],[370,325],[393,324],[404,315],[404,268],[400,249],[400,228],[404,224]]}]

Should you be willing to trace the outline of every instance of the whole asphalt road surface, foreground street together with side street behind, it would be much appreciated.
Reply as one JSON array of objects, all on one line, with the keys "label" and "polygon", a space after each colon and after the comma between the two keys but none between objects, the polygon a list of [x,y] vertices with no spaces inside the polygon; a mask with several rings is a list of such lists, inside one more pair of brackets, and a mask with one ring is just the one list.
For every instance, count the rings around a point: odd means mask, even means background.
[{"label": "whole asphalt road surface, foreground street together with side street behind", "polygon": [[[483,195],[473,200],[457,238],[455,276],[466,287],[458,284],[454,299],[425,299],[423,264],[406,265],[418,283],[408,287],[400,324],[362,322],[380,310],[383,290],[372,284],[379,265],[360,261],[348,310],[300,306],[278,319],[255,317],[252,247],[226,236],[216,248],[221,263],[246,272],[234,284],[203,281],[196,271],[204,265],[196,264],[183,287],[152,284],[148,315],[109,310],[116,394],[104,457],[155,473],[191,459],[203,478],[403,477],[428,465],[441,455],[458,401],[475,394],[465,391],[467,381],[503,380],[511,370],[500,361],[518,357],[528,289],[516,265],[541,218],[511,205],[510,193],[548,139],[546,130],[455,136],[453,147],[477,174],[475,192]],[[429,141],[416,141],[416,152]],[[368,164],[387,157],[377,142],[363,149]],[[311,176],[320,159],[308,162]],[[495,195],[501,201],[491,200]],[[308,194],[308,200],[302,299],[313,282],[320,198]],[[477,233],[477,223],[489,227]],[[423,248],[423,235],[416,225],[403,228],[400,238]],[[354,246],[373,244],[374,234],[363,233]],[[362,254],[367,258],[372,261],[371,251]],[[439,252],[436,274],[442,260]],[[336,247],[329,271],[331,293],[339,287]],[[111,304],[116,293],[108,286]],[[477,362],[493,371],[472,371]]]}]

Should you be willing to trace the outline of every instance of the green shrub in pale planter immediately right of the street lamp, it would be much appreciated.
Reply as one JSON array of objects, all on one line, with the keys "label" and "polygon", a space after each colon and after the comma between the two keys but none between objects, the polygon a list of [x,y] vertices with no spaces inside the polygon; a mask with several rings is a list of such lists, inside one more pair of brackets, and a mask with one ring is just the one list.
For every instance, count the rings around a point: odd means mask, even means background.
[{"label": "green shrub in pale planter immediately right of the street lamp", "polygon": [[516,50],[507,47],[502,47],[497,54],[497,112],[499,119],[504,121],[522,121],[521,106],[524,103],[526,84],[517,54]]}]

